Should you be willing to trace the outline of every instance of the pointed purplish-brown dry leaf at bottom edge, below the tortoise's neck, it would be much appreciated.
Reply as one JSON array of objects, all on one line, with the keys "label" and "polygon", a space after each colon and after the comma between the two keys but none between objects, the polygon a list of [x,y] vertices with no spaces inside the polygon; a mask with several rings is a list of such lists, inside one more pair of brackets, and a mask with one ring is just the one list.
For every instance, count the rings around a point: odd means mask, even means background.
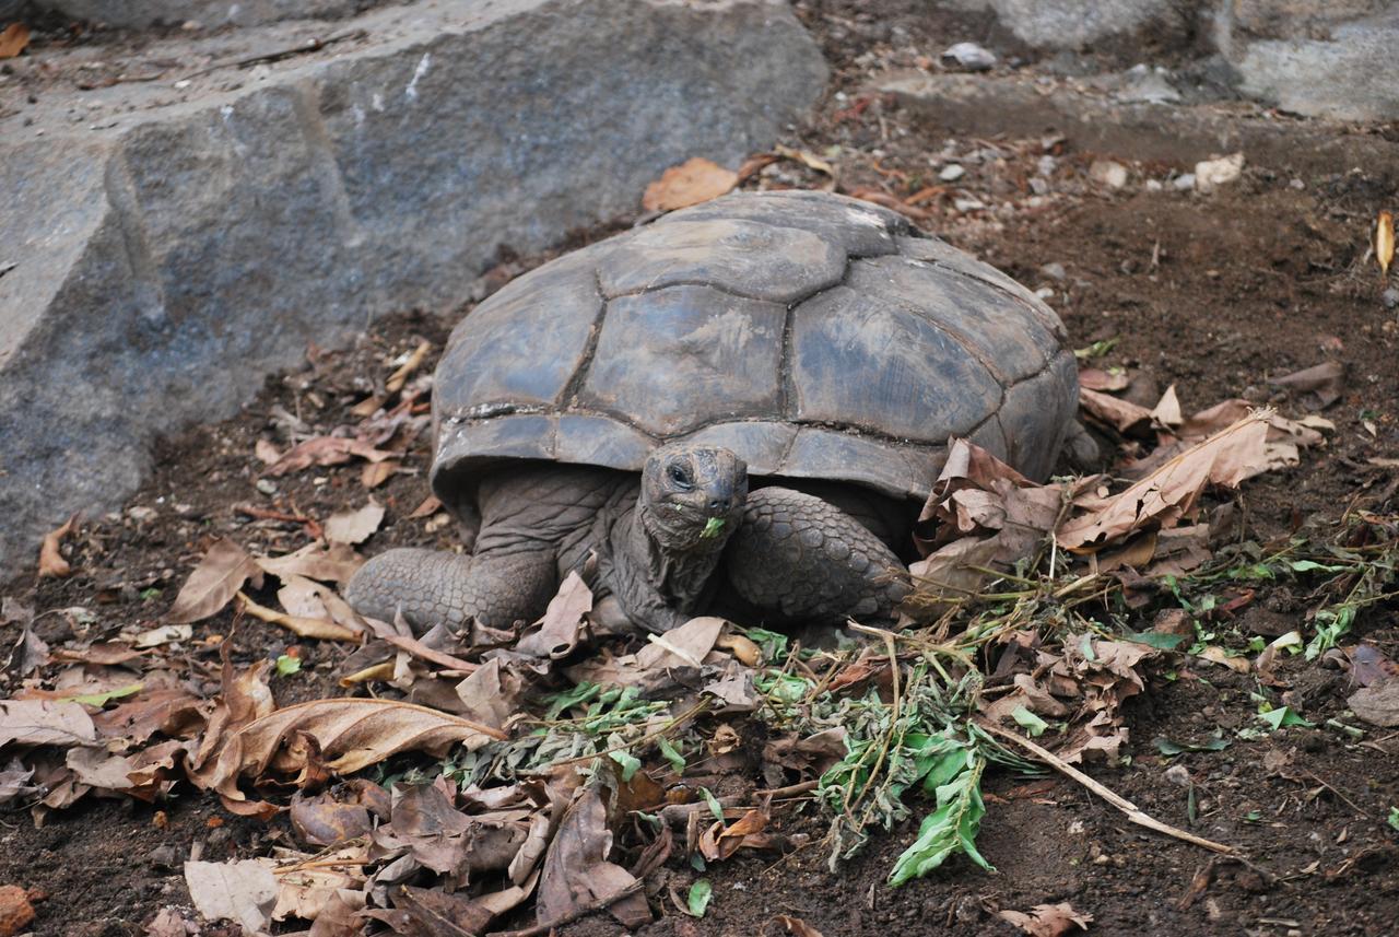
[{"label": "pointed purplish-brown dry leaf at bottom edge, below the tortoise's neck", "polygon": [[[635,887],[631,873],[607,861],[611,842],[607,808],[597,792],[589,787],[564,814],[544,856],[536,902],[540,923],[562,919],[579,908]],[[635,929],[651,922],[645,895],[631,894],[611,903],[609,910],[624,927]]]}]

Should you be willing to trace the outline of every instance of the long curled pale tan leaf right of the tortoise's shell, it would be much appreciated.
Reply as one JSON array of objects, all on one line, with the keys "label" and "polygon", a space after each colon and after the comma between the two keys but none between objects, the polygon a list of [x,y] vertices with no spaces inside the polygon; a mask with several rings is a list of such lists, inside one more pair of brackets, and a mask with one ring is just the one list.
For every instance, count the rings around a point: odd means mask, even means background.
[{"label": "long curled pale tan leaf right of the tortoise's shell", "polygon": [[1108,498],[1097,510],[1070,517],[1055,531],[1059,545],[1090,552],[1149,526],[1175,526],[1191,516],[1207,484],[1237,487],[1266,466],[1267,415],[1249,414]]}]

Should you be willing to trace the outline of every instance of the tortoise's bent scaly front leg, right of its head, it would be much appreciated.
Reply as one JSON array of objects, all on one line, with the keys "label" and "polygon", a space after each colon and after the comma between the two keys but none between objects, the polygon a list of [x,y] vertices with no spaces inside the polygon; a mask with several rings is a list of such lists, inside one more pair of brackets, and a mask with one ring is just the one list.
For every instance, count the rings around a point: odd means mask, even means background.
[{"label": "tortoise's bent scaly front leg, right of its head", "polygon": [[785,621],[890,622],[909,592],[908,569],[858,520],[814,495],[748,495],[725,557],[741,599]]}]

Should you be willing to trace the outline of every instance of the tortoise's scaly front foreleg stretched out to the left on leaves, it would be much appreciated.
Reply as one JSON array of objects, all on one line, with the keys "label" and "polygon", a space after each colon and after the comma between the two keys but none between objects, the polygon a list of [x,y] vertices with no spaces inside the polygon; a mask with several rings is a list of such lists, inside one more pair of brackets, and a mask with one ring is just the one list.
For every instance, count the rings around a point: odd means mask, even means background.
[{"label": "tortoise's scaly front foreleg stretched out to the left on leaves", "polygon": [[558,587],[553,550],[488,551],[462,555],[438,550],[389,550],[361,566],[346,597],[361,615],[393,621],[396,613],[416,632],[439,622],[473,620],[509,628],[544,614]]}]

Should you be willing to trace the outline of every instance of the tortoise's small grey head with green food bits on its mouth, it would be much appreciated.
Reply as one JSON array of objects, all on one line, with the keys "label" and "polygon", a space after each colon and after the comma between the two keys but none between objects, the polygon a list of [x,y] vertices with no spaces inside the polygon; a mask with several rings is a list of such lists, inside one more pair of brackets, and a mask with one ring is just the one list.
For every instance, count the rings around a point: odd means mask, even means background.
[{"label": "tortoise's small grey head with green food bits on its mouth", "polygon": [[748,496],[748,466],[727,449],[672,443],[641,470],[642,522],[659,545],[686,552],[729,540]]}]

